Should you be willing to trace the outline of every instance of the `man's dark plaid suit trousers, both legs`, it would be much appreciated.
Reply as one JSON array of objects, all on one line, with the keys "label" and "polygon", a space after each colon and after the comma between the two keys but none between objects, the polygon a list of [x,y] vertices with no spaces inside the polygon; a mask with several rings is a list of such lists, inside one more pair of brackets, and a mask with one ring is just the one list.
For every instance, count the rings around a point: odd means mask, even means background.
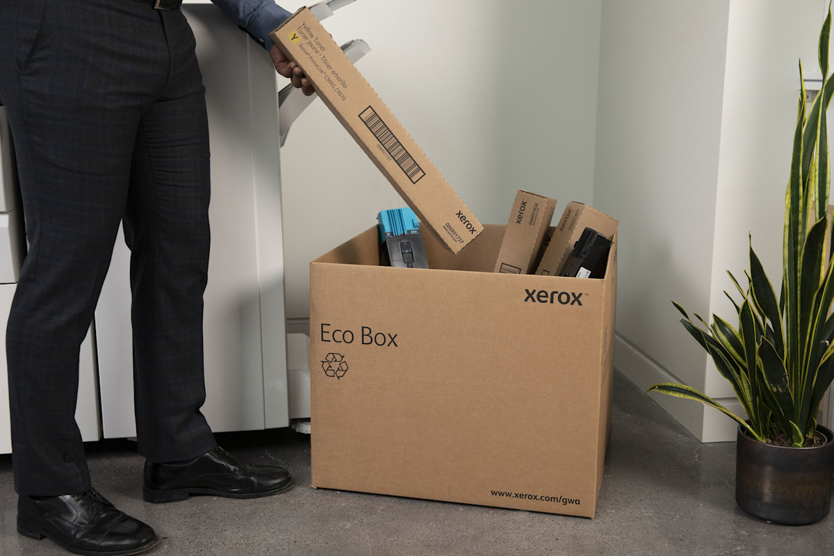
[{"label": "man's dark plaid suit trousers, both legs", "polygon": [[6,338],[18,493],[91,486],[74,418],[78,356],[120,222],[138,450],[173,461],[213,449],[200,413],[208,120],[183,13],[133,0],[0,0],[0,102],[29,242]]}]

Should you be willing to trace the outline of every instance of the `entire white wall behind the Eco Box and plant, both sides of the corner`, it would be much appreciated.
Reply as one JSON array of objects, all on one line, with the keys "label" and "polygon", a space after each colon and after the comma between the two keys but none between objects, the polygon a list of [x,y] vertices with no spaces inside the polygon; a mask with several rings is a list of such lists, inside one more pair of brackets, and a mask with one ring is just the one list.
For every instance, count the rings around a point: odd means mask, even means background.
[{"label": "entire white wall behind the Eco Box and plant, both sides of the corner", "polygon": [[[301,3],[284,3],[290,10]],[[678,323],[732,315],[747,233],[778,280],[799,58],[816,67],[823,0],[357,0],[324,22],[485,223],[518,188],[620,219],[615,365],[734,406]],[[309,315],[309,261],[403,206],[322,103],[282,149],[287,314]],[[558,210],[557,210],[558,213]],[[729,418],[652,394],[698,438]]]}]

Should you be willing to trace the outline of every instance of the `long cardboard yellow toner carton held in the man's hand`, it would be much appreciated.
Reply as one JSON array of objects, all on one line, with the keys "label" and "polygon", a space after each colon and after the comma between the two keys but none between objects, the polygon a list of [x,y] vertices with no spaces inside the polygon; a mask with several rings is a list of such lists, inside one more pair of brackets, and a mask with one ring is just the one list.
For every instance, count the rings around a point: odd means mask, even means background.
[{"label": "long cardboard yellow toner carton held in the man's hand", "polygon": [[269,34],[379,171],[453,253],[484,229],[308,8]]}]

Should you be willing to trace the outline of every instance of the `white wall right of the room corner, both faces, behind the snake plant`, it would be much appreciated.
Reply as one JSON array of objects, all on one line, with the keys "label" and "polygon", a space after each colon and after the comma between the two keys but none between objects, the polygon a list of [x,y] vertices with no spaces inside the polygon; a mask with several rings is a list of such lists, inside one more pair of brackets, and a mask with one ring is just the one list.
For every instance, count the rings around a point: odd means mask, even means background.
[{"label": "white wall right of the room corner, both faces, behind the snake plant", "polygon": [[[730,320],[725,271],[743,277],[748,232],[781,278],[797,60],[816,59],[822,12],[821,0],[603,3],[595,204],[621,221],[615,364],[641,388],[732,395],[671,299]],[[735,438],[715,410],[652,396],[698,438]]]}]

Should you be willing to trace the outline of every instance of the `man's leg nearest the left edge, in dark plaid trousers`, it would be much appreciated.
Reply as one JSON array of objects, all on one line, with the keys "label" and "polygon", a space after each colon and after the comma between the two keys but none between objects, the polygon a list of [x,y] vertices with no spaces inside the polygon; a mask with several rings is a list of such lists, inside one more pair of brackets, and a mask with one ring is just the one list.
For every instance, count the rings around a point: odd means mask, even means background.
[{"label": "man's leg nearest the left edge, in dark plaid trousers", "polygon": [[29,242],[7,333],[15,485],[24,495],[80,493],[90,479],[74,420],[79,346],[128,193],[141,115],[130,82],[148,76],[109,44],[126,39],[128,14],[86,0],[0,9],[0,35],[17,25],[23,34],[21,45],[0,39]]}]

